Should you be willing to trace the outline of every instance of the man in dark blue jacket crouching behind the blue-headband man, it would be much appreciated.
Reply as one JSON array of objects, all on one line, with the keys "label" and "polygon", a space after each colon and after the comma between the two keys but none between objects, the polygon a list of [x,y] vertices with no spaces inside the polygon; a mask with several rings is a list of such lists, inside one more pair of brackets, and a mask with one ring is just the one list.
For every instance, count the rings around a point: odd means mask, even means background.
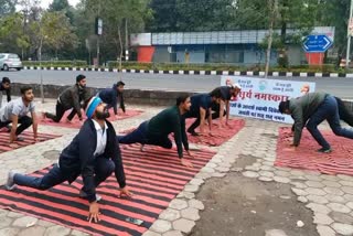
[{"label": "man in dark blue jacket crouching behind the blue-headband man", "polygon": [[103,103],[107,104],[108,109],[113,107],[115,116],[118,115],[118,104],[122,112],[125,112],[125,103],[124,103],[124,82],[118,82],[114,84],[111,88],[105,88],[99,92],[99,98]]}]

